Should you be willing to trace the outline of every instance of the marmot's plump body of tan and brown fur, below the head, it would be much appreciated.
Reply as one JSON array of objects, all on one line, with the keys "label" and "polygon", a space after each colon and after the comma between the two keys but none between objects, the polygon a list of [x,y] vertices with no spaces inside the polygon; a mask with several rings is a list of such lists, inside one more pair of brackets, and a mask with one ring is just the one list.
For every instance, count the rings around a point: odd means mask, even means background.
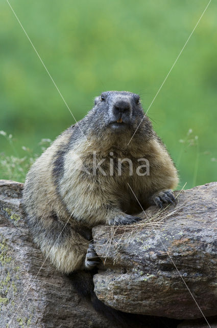
[{"label": "marmot's plump body of tan and brown fur, below the head", "polygon": [[[102,119],[99,116],[99,124]],[[139,121],[140,118],[136,118],[136,125]],[[131,214],[132,208],[138,210],[128,183],[143,206],[152,203],[154,194],[177,186],[177,170],[170,155],[152,130],[148,118],[144,121],[150,132],[144,138],[138,132],[129,146],[131,131],[126,131],[123,138],[110,130],[98,135],[88,128],[85,139],[83,135],[78,138],[78,129],[71,127],[53,142],[29,171],[23,193],[29,227],[41,251],[61,272],[68,274],[85,268],[89,238],[81,231],[99,223],[111,224],[112,219]],[[130,158],[134,164],[133,175],[129,176],[126,161],[121,176],[116,170],[113,176],[100,173],[93,176],[93,152],[96,152],[98,162],[106,158],[101,166],[105,172],[109,172],[111,157],[114,160]],[[91,174],[75,168],[75,153]],[[138,158],[149,160],[149,176],[136,174]],[[59,176],[54,168],[58,160],[60,169],[56,171],[61,171]]]}]

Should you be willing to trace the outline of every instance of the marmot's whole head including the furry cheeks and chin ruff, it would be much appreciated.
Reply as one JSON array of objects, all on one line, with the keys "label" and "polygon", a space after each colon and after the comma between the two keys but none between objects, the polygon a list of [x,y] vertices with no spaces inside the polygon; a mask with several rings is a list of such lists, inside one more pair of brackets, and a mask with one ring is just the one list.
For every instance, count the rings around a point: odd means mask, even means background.
[{"label": "marmot's whole head including the furry cheeks and chin ruff", "polygon": [[[144,115],[139,95],[127,91],[106,91],[95,98],[95,106],[82,119],[82,129],[100,143],[146,142],[153,136],[152,124]],[[111,142],[110,142],[111,141]],[[97,142],[97,141],[96,141]]]}]

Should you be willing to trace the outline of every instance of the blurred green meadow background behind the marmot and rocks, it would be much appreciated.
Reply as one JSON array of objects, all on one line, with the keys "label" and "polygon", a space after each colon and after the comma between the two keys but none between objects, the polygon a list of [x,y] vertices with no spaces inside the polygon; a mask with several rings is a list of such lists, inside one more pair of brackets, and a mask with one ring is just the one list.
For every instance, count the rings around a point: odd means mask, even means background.
[{"label": "blurred green meadow background behind the marmot and rocks", "polygon": [[[208,0],[9,2],[79,120],[105,90],[139,93],[146,110]],[[216,10],[213,1],[149,110],[185,188],[216,180]],[[0,45],[0,177],[23,181],[40,140],[75,121],[6,1]]]}]

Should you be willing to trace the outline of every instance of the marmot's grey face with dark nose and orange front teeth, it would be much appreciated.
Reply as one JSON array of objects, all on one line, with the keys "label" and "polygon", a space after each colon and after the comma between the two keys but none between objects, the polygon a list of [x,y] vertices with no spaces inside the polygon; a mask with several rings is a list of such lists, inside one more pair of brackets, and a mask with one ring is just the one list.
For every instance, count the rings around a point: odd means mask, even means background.
[{"label": "marmot's grey face with dark nose and orange front teeth", "polygon": [[110,129],[114,133],[135,130],[144,117],[139,95],[127,91],[103,92],[95,98],[91,112],[103,130]]}]

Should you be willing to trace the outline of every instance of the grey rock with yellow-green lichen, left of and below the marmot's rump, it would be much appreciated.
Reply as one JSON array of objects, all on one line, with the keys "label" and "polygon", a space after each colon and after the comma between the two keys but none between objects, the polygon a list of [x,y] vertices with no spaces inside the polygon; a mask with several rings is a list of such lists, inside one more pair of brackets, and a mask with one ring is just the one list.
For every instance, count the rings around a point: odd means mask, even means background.
[{"label": "grey rock with yellow-green lichen, left of and below the marmot's rump", "polygon": [[32,243],[22,187],[0,180],[0,328],[109,328]]}]

